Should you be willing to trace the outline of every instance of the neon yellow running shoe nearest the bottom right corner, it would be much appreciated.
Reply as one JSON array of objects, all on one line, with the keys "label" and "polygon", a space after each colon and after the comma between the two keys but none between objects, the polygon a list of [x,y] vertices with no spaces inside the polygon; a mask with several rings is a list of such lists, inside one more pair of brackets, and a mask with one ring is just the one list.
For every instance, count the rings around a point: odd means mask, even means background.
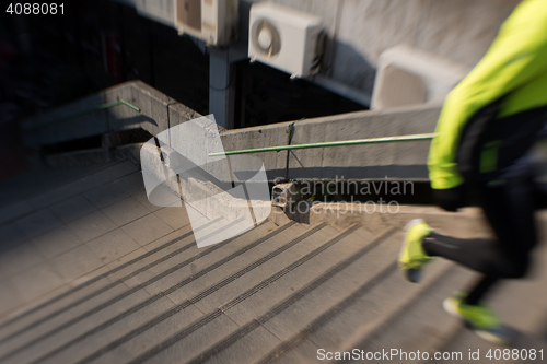
[{"label": "neon yellow running shoe nearest the bottom right corner", "polygon": [[499,345],[510,344],[511,330],[502,324],[493,310],[484,304],[466,304],[466,296],[465,293],[454,292],[451,297],[444,300],[444,309],[463,319],[479,338]]}]

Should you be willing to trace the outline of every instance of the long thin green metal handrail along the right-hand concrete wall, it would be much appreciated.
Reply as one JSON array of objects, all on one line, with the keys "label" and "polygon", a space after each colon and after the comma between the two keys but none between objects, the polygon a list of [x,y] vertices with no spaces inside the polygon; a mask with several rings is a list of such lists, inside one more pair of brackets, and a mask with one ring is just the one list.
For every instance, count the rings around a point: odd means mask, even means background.
[{"label": "long thin green metal handrail along the right-hand concrete wall", "polygon": [[278,151],[287,151],[287,150],[293,150],[293,149],[387,143],[387,142],[395,142],[395,141],[429,140],[429,139],[433,139],[434,136],[435,136],[435,133],[426,133],[426,134],[369,138],[369,139],[357,139],[357,140],[341,140],[341,141],[335,141],[335,142],[322,142],[322,143],[310,143],[310,144],[265,146],[265,148],[257,148],[257,149],[245,149],[245,150],[241,150],[241,151],[209,153],[208,155],[209,156],[219,156],[219,155],[233,155],[233,154],[246,154],[246,153],[278,152]]}]

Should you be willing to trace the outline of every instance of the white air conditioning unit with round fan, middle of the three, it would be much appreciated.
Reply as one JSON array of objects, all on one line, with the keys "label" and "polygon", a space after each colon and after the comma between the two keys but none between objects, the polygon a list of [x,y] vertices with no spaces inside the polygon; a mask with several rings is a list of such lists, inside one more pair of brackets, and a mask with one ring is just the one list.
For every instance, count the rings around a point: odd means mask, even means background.
[{"label": "white air conditioning unit with round fan, middle of the three", "polygon": [[274,2],[251,7],[248,56],[302,78],[318,72],[325,33],[322,19]]}]

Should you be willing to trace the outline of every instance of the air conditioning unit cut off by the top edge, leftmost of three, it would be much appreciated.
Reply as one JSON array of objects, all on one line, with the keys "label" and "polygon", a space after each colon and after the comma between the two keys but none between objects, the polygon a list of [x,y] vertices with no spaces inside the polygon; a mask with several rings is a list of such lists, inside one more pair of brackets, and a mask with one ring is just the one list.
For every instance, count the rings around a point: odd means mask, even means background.
[{"label": "air conditioning unit cut off by the top edge, leftmost of three", "polygon": [[175,27],[208,45],[224,46],[237,39],[238,0],[175,0]]}]

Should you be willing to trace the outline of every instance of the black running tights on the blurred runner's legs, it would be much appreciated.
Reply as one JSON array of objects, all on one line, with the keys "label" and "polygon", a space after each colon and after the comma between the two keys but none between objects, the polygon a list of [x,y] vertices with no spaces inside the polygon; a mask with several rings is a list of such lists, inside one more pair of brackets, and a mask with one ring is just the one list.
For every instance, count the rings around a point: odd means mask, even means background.
[{"label": "black running tights on the blurred runner's legs", "polygon": [[477,303],[499,280],[522,278],[537,243],[532,178],[522,174],[503,184],[478,187],[480,204],[496,233],[494,239],[459,239],[432,232],[423,240],[430,256],[443,257],[481,272],[467,298]]}]

